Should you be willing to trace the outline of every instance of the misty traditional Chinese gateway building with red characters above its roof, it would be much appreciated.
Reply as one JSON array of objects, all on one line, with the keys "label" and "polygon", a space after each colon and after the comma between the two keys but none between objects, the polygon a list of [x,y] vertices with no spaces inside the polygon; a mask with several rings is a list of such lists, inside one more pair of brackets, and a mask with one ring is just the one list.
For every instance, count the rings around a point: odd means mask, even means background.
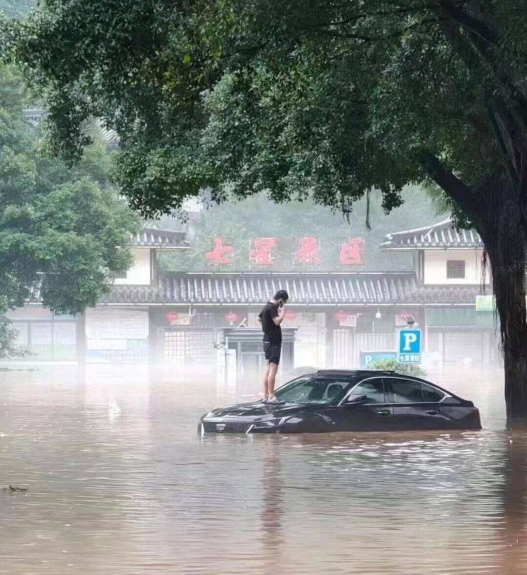
[{"label": "misty traditional Chinese gateway building with red characters above its roof", "polygon": [[[316,239],[305,240],[294,256],[317,258]],[[275,242],[253,241],[251,258],[265,265]],[[343,244],[344,263],[362,263],[362,242]],[[395,350],[397,329],[409,315],[424,330],[425,362],[499,361],[482,242],[448,220],[386,236],[381,250],[394,260],[413,254],[408,271],[158,271],[160,250],[188,247],[183,232],[145,228],[133,240],[133,267],[83,317],[55,317],[37,304],[11,313],[21,343],[42,359],[166,363],[176,373],[229,362],[237,370],[258,369],[260,335],[251,328],[262,304],[284,288],[290,294],[284,367],[359,366],[361,352]],[[229,259],[229,248],[216,241],[207,254]]]}]

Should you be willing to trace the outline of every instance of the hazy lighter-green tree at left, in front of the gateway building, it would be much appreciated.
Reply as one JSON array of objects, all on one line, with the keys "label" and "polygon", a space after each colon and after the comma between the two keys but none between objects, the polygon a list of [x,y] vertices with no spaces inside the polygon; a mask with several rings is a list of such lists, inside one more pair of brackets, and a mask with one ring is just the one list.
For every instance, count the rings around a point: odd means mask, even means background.
[{"label": "hazy lighter-green tree at left, in front of the gateway building", "polygon": [[0,356],[15,349],[2,312],[36,295],[58,313],[94,306],[130,265],[138,225],[108,185],[103,144],[69,170],[42,150],[23,105],[20,74],[0,68]]}]

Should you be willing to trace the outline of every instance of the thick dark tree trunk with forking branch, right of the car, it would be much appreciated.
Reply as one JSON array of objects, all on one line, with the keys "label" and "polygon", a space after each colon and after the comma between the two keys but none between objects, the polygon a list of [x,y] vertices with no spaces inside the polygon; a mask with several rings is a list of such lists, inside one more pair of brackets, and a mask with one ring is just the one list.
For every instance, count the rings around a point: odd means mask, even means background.
[{"label": "thick dark tree trunk with forking branch, right of the car", "polygon": [[505,363],[508,427],[527,427],[527,317],[525,271],[527,224],[522,196],[503,174],[471,189],[428,153],[418,156],[424,170],[458,204],[480,233],[490,262]]}]

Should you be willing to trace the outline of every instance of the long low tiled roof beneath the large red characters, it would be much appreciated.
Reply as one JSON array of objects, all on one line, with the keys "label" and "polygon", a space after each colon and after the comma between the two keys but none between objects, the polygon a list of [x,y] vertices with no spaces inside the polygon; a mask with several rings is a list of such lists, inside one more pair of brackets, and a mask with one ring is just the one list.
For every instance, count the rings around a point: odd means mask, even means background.
[{"label": "long low tiled roof beneath the large red characters", "polygon": [[114,286],[111,304],[263,304],[278,289],[291,305],[475,305],[479,286],[418,286],[413,273],[180,274],[155,286]]}]

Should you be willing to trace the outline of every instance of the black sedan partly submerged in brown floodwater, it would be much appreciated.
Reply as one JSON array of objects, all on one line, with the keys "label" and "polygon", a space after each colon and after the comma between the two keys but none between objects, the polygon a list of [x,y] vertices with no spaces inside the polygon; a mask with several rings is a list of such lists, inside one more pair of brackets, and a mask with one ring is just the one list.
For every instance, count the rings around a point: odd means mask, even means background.
[{"label": "black sedan partly submerged in brown floodwater", "polygon": [[213,409],[201,417],[206,433],[479,430],[479,411],[439,386],[393,371],[320,370],[262,401]]}]

